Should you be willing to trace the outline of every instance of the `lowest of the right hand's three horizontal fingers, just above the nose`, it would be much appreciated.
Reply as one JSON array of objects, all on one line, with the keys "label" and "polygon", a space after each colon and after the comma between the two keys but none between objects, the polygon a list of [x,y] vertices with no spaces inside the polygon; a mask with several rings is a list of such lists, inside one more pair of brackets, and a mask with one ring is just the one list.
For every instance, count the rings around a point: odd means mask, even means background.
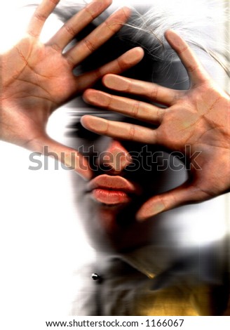
[{"label": "lowest of the right hand's three horizontal fingers, just above the nose", "polygon": [[89,115],[81,117],[81,124],[89,131],[111,138],[140,143],[157,143],[156,130],[151,128]]}]

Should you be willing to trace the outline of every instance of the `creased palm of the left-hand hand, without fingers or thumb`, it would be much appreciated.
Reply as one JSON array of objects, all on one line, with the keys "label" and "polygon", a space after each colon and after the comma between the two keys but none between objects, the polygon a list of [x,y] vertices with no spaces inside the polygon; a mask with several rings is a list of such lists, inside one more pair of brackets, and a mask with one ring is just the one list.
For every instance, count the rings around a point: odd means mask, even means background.
[{"label": "creased palm of the left-hand hand, without fingers or thumb", "polygon": [[1,118],[1,138],[27,145],[42,133],[50,112],[73,93],[74,76],[60,53],[30,36],[2,55],[2,62],[8,111]]}]

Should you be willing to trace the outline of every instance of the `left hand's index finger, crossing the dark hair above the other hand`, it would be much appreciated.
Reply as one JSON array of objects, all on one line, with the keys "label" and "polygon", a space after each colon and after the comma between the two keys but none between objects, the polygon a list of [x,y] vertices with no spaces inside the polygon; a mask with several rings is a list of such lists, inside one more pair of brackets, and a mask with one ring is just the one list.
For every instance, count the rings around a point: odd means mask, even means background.
[{"label": "left hand's index finger, crossing the dark hair above the other hand", "polygon": [[76,88],[79,91],[83,91],[90,86],[93,86],[95,82],[102,78],[104,74],[108,72],[113,72],[119,74],[125,70],[128,70],[130,67],[136,65],[144,56],[144,51],[140,47],[135,47],[124,53],[123,55],[116,58],[97,70],[87,72],[76,78]]}]

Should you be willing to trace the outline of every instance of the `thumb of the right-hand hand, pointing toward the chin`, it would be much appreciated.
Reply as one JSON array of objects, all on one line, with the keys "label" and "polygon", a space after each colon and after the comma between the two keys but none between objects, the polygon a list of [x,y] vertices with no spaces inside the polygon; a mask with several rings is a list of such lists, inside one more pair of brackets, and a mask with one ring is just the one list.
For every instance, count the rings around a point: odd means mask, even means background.
[{"label": "thumb of the right-hand hand, pointing toward the chin", "polygon": [[169,192],[152,197],[142,205],[137,211],[137,221],[144,221],[147,218],[156,216],[158,213],[174,209],[184,204],[202,202],[208,199],[208,194],[198,189],[198,187],[184,183]]}]

